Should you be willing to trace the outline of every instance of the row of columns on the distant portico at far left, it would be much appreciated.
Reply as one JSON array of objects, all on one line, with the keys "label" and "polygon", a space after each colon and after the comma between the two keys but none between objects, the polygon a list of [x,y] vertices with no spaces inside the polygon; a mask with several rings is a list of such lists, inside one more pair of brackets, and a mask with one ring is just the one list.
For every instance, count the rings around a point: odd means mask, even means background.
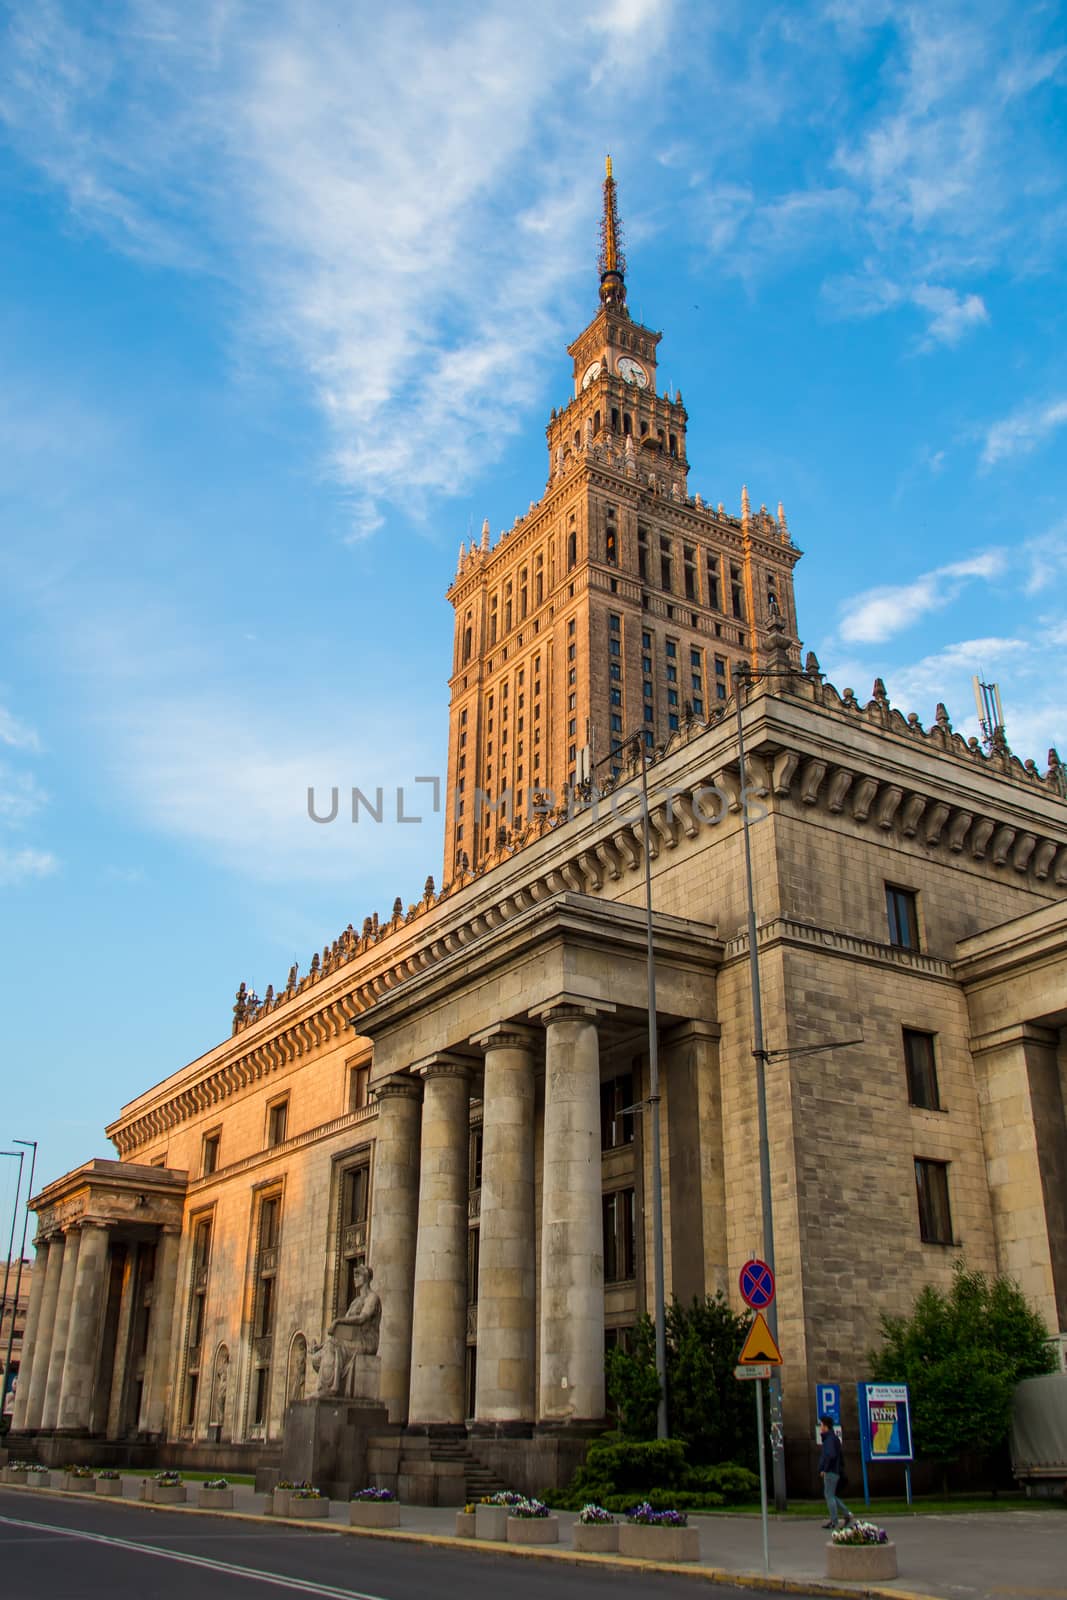
[{"label": "row of columns on the distant portico at far left", "polygon": [[[179,1227],[160,1229],[152,1278],[152,1314],[144,1354],[138,1432],[165,1424]],[[26,1352],[14,1398],[13,1430],[104,1430],[130,1360],[133,1275],[126,1274],[117,1326],[125,1338],[104,1349],[114,1224],[83,1216],[37,1240],[26,1317]],[[102,1366],[106,1370],[102,1371]],[[101,1414],[107,1406],[107,1414]]]}]

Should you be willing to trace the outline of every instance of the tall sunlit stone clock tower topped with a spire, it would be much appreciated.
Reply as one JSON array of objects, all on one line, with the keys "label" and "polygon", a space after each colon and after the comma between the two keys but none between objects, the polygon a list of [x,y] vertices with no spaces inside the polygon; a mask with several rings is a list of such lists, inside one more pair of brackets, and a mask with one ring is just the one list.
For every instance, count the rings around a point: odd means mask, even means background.
[{"label": "tall sunlit stone clock tower topped with a spire", "polygon": [[[574,397],[553,410],[544,494],[496,544],[459,547],[445,878],[491,854],[576,782],[603,779],[624,741],[654,747],[758,666],[777,616],[797,640],[785,515],[689,496],[681,394],[659,394],[662,334],[625,304],[611,158],[600,309],[574,339]],[[723,390],[726,392],[726,390]],[[466,858],[466,859],[464,859]]]}]

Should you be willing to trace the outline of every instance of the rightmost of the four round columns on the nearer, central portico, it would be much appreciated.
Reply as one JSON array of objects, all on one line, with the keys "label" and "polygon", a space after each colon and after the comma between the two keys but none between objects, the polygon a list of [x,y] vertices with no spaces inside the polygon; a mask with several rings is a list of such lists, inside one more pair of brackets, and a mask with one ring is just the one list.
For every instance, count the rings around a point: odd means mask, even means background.
[{"label": "rightmost of the four round columns on the nearer, central portico", "polygon": [[593,1002],[560,997],[545,1024],[539,1421],[600,1421],[603,1202],[600,1043]]}]

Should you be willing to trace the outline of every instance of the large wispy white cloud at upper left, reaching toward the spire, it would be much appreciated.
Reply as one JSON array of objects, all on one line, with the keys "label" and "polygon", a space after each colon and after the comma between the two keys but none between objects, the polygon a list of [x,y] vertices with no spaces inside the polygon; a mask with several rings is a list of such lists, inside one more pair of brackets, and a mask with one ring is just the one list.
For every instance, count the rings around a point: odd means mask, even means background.
[{"label": "large wispy white cloud at upper left, reaching toward the spire", "polygon": [[42,0],[0,117],[85,224],[229,280],[245,339],[302,371],[365,536],[382,501],[459,491],[539,387],[598,158],[558,107],[635,54],[654,74],[670,14],[400,0],[368,27],[323,0]]}]

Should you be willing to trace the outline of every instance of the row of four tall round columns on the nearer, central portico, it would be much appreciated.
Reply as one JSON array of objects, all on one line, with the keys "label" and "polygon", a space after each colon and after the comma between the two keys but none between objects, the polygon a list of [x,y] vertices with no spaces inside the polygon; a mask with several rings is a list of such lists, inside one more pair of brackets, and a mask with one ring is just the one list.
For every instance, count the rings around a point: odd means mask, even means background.
[{"label": "row of four tall round columns on the nearer, central portico", "polygon": [[[561,998],[536,1013],[545,1054],[539,1296],[541,1040],[512,1022],[470,1040],[485,1056],[477,1422],[528,1427],[605,1411],[598,1014],[613,1010]],[[394,1421],[462,1424],[470,1062],[450,1051],[429,1056],[411,1075],[386,1080],[378,1104],[371,1240],[381,1398]]]}]

